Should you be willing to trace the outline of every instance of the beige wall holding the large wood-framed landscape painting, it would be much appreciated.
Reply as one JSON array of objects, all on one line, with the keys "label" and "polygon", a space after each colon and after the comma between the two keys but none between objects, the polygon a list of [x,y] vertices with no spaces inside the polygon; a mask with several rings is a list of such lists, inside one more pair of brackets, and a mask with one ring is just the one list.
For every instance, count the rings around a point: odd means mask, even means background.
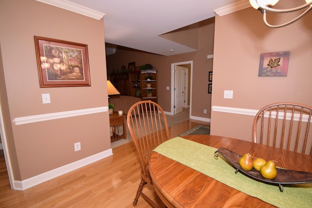
[{"label": "beige wall holding the large wood-framed landscape painting", "polygon": [[[103,19],[35,0],[0,3],[1,109],[14,180],[110,149],[108,112],[15,125],[14,118],[107,106]],[[88,45],[91,87],[40,88],[34,36]],[[42,104],[41,94],[51,104]],[[81,151],[74,143],[81,142]]]}]

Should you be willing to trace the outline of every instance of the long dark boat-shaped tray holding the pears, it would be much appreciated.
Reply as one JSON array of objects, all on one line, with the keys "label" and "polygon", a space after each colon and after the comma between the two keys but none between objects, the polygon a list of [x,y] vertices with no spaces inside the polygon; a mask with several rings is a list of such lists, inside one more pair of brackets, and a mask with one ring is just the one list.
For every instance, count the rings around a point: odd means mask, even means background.
[{"label": "long dark boat-shaped tray holding the pears", "polygon": [[215,151],[215,157],[218,157],[218,153],[220,153],[225,159],[227,159],[235,168],[235,173],[239,170],[244,175],[247,175],[257,181],[261,181],[269,184],[278,184],[279,190],[283,191],[283,185],[285,184],[304,184],[304,183],[312,183],[312,173],[311,172],[302,172],[302,171],[294,171],[294,170],[286,170],[277,168],[277,176],[274,179],[266,179],[264,178],[259,171],[257,170],[243,170],[238,161],[242,157],[241,155],[230,151],[225,148],[220,148]]}]

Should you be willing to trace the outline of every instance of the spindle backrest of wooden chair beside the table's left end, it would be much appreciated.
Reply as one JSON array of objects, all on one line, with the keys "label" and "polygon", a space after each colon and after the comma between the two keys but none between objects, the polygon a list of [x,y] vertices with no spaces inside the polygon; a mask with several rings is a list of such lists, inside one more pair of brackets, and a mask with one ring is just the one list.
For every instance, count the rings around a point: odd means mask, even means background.
[{"label": "spindle backrest of wooden chair beside the table's left end", "polygon": [[141,161],[144,176],[149,177],[148,164],[152,151],[170,138],[165,113],[153,101],[139,101],[130,108],[127,124]]}]

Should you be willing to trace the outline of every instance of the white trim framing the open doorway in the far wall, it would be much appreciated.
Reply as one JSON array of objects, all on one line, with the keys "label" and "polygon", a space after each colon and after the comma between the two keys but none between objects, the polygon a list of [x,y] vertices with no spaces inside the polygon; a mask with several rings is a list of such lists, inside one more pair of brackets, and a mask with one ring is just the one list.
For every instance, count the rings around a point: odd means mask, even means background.
[{"label": "white trim framing the open doorway in the far wall", "polygon": [[170,115],[174,114],[174,105],[175,105],[175,68],[176,65],[184,65],[184,64],[191,64],[191,77],[190,77],[190,116],[192,114],[192,83],[193,83],[193,61],[184,61],[178,63],[171,64],[171,113]]}]

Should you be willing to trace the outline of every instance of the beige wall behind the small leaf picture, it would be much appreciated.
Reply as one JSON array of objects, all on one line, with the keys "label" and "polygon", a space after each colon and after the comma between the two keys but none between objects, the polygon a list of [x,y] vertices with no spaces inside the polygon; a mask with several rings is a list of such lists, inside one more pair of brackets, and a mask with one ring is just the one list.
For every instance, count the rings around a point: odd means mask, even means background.
[{"label": "beige wall behind the small leaf picture", "polygon": [[[259,77],[260,53],[278,51],[290,51],[288,75]],[[278,29],[265,26],[253,8],[215,17],[212,106],[259,110],[279,101],[312,105],[311,77],[311,12]],[[233,90],[234,98],[224,99],[224,90]],[[213,111],[211,134],[252,141],[253,118]]]}]

